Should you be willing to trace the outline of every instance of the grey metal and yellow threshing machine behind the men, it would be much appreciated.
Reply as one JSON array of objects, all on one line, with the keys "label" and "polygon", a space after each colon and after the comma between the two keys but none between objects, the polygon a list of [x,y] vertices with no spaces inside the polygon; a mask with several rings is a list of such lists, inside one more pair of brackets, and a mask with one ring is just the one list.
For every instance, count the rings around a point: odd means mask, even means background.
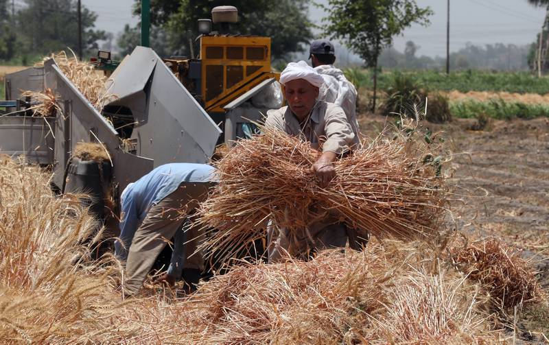
[{"label": "grey metal and yellow threshing machine behind the men", "polygon": [[[108,78],[105,87],[115,99],[101,111],[55,58],[6,75],[0,153],[51,167],[54,187],[91,193],[100,218],[105,198],[117,204],[126,185],[154,167],[207,163],[218,143],[230,145],[250,135],[261,113],[282,103],[275,82],[279,75],[270,67],[270,38],[229,34],[228,25],[237,21],[232,6],[214,8],[212,19],[199,21],[198,58],[163,60],[148,47],[136,47]],[[212,23],[220,31],[212,32]],[[28,116],[32,104],[21,99],[22,91],[47,89],[56,95],[60,111]],[[82,142],[100,143],[109,159],[97,164],[75,158]]]}]

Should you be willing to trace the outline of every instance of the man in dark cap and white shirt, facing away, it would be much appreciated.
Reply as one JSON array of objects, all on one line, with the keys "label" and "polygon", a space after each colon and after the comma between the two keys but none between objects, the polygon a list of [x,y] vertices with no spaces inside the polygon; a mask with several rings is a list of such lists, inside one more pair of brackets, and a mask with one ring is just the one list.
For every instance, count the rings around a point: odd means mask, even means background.
[{"label": "man in dark cap and white shirt, facing away", "polygon": [[309,59],[314,69],[322,75],[324,84],[320,86],[318,99],[340,106],[353,128],[355,136],[360,130],[356,119],[356,89],[343,72],[334,67],[336,50],[329,40],[314,40],[309,48]]}]

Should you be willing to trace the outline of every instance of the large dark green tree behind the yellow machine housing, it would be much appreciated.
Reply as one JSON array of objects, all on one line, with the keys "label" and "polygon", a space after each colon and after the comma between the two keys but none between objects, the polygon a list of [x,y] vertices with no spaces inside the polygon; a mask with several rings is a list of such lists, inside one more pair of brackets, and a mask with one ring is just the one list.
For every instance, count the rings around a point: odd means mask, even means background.
[{"label": "large dark green tree behind the yellow machine housing", "polygon": [[[312,38],[312,23],[307,19],[307,0],[234,0],[239,9],[235,32],[269,36],[273,58],[287,58],[289,53],[303,51]],[[211,18],[211,9],[226,5],[222,0],[152,0],[150,18],[167,33],[168,46],[174,53],[189,55],[189,40],[194,41],[198,19]],[[136,0],[135,14],[141,13]],[[215,29],[215,27],[214,27]]]}]

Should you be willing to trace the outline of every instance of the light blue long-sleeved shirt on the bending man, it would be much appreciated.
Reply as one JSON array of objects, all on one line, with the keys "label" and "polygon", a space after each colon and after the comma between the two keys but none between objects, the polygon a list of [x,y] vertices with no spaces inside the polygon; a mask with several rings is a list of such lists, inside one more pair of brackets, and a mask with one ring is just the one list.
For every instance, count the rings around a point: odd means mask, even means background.
[{"label": "light blue long-sleeved shirt on the bending man", "polygon": [[[214,182],[213,171],[214,168],[207,164],[170,163],[156,167],[149,174],[130,183],[120,198],[124,219],[121,219],[119,224],[119,238],[126,244],[126,248],[123,248],[118,240],[115,241],[115,255],[124,261],[128,259],[128,249],[135,232],[147,217],[152,205],[158,204],[167,195],[176,191],[183,182]],[[178,231],[174,237],[174,252],[167,272],[177,278],[181,276],[185,261],[185,241],[185,233]]]}]

